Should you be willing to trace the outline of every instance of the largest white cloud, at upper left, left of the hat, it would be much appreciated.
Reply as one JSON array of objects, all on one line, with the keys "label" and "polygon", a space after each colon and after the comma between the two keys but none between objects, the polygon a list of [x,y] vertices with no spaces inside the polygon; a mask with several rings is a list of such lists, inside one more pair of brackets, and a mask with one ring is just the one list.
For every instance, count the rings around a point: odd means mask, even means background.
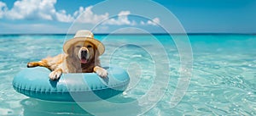
[{"label": "largest white cloud, at upper left, left of the hat", "polygon": [[73,16],[65,10],[55,10],[56,0],[21,0],[14,7],[3,12],[6,19],[46,19],[72,22]]}]

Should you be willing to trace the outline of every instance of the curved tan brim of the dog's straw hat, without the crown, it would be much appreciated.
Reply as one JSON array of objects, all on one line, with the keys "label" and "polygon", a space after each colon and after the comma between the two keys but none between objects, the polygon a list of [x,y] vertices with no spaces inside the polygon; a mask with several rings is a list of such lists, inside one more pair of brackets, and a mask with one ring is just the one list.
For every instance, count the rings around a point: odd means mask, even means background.
[{"label": "curved tan brim of the dog's straw hat, without the crown", "polygon": [[102,44],[101,41],[98,41],[94,38],[90,38],[90,37],[76,37],[73,39],[70,39],[68,41],[66,41],[63,45],[63,51],[65,53],[67,53],[67,50],[73,46],[74,43],[78,42],[78,41],[90,41],[92,44],[94,44],[99,52],[99,55],[102,55],[105,52],[105,47]]}]

